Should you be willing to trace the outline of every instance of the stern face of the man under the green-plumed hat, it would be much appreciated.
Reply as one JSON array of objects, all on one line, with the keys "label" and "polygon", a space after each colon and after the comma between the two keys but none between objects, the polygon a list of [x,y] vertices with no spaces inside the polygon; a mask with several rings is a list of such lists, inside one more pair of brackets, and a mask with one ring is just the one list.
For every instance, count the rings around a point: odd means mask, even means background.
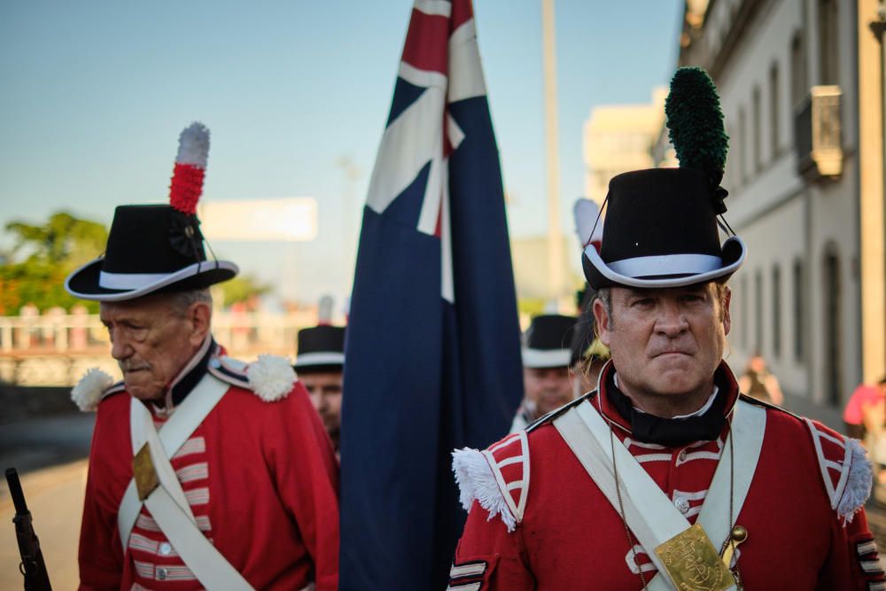
[{"label": "stern face of the man under the green-plumed hat", "polygon": [[727,288],[611,288],[611,316],[602,302],[594,312],[600,339],[610,347],[618,381],[629,395],[679,397],[710,394],[729,333]]}]

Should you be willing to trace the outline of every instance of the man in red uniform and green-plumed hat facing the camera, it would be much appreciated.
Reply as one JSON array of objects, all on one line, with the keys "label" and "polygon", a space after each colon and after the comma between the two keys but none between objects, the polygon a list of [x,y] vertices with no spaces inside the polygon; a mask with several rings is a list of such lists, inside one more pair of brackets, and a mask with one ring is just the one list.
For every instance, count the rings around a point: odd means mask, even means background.
[{"label": "man in red uniform and green-plumed hat facing the camera", "polygon": [[469,514],[449,588],[886,588],[859,442],[744,396],[722,360],[747,247],[723,217],[713,82],[681,68],[665,109],[680,168],[613,178],[582,253],[598,389],[455,451]]}]

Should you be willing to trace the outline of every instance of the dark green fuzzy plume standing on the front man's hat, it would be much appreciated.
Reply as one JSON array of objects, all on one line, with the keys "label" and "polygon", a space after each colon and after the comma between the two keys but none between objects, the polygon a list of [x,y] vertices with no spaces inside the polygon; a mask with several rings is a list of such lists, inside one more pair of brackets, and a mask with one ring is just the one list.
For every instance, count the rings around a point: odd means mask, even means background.
[{"label": "dark green fuzzy plume standing on the front man's hat", "polygon": [[703,170],[716,186],[723,178],[729,136],[723,128],[717,87],[700,67],[681,67],[673,74],[664,101],[671,143],[680,167]]}]

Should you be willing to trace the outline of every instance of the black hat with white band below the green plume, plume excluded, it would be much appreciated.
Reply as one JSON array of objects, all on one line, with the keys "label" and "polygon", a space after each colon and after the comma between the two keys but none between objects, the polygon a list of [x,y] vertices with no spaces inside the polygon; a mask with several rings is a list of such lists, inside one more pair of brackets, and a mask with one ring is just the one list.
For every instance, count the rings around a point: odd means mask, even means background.
[{"label": "black hat with white band below the green plume, plume excluded", "polygon": [[615,176],[597,253],[581,257],[587,283],[602,287],[679,287],[732,275],[747,249],[721,246],[709,176],[694,168],[650,168]]}]

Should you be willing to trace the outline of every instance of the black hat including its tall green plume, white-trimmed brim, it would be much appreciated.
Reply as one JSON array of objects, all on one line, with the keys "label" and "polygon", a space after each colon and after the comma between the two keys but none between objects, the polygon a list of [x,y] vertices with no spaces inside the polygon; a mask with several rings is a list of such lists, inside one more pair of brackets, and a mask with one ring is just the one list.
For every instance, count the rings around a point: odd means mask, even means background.
[{"label": "black hat including its tall green plume, white-trimmed brim", "polygon": [[678,68],[664,113],[680,168],[637,170],[610,181],[600,252],[585,245],[581,257],[595,290],[725,281],[744,262],[747,249],[725,219],[729,237],[719,241],[729,136],[711,77],[699,67]]}]

